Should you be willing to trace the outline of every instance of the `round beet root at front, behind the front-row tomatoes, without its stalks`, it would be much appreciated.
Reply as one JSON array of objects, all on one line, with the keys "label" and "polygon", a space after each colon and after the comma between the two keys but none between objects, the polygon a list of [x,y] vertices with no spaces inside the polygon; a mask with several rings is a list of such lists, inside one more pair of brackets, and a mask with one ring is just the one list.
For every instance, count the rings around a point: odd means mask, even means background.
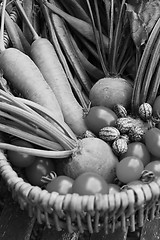
[{"label": "round beet root at front, behind the front-row tomatoes, without its stalks", "polygon": [[118,158],[109,144],[99,138],[83,138],[69,161],[65,161],[65,175],[76,179],[84,172],[96,172],[108,183],[115,178]]}]

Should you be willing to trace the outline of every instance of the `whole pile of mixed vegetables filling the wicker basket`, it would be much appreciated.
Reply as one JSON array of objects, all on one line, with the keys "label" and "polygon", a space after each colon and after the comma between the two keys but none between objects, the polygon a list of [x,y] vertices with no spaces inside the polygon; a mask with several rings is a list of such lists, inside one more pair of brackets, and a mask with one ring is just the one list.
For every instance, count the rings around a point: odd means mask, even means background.
[{"label": "whole pile of mixed vegetables filling the wicker basket", "polygon": [[160,176],[160,6],[140,2],[1,1],[0,149],[25,181],[93,195]]}]

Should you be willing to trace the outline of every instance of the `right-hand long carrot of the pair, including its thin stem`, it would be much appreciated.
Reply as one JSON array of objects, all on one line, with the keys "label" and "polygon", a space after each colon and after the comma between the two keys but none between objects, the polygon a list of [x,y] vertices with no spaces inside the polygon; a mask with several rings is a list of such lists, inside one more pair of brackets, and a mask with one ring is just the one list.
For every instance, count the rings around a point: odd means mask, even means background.
[{"label": "right-hand long carrot of the pair, including its thin stem", "polygon": [[75,134],[82,135],[87,129],[83,119],[83,109],[72,92],[66,73],[53,45],[48,39],[38,36],[31,23],[28,21],[18,0],[16,1],[16,5],[33,34],[33,43],[31,44],[32,59],[55,93],[61,106],[65,122]]}]

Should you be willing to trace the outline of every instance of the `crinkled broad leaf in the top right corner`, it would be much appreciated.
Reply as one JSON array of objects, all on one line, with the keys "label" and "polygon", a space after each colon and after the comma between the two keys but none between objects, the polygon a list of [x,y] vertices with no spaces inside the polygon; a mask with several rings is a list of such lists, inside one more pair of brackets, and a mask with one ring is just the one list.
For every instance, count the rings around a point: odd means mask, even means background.
[{"label": "crinkled broad leaf in the top right corner", "polygon": [[128,0],[126,11],[129,16],[132,38],[137,48],[145,44],[156,21],[160,17],[159,0]]}]

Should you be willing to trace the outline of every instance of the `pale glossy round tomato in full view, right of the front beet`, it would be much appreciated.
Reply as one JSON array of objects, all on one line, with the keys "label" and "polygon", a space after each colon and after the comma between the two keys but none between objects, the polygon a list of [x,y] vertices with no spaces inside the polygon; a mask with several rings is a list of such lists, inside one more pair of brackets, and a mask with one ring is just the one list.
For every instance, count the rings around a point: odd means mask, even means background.
[{"label": "pale glossy round tomato in full view, right of the front beet", "polygon": [[143,170],[142,161],[134,156],[125,157],[116,165],[117,178],[123,183],[138,180]]}]

